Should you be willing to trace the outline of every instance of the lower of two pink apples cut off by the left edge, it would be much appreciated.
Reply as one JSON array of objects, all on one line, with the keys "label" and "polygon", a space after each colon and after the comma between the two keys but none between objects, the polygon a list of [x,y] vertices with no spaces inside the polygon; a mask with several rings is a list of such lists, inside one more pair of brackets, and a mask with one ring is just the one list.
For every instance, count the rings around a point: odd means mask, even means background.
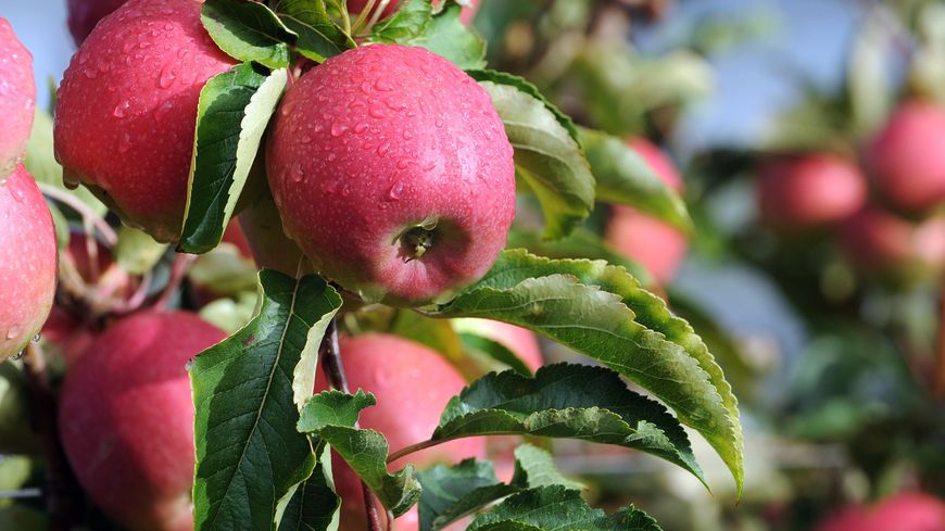
[{"label": "lower of two pink apples cut off by the left edge", "polygon": [[[11,220],[15,219],[15,223]],[[55,294],[52,215],[20,164],[0,178],[0,363],[36,336]]]}]

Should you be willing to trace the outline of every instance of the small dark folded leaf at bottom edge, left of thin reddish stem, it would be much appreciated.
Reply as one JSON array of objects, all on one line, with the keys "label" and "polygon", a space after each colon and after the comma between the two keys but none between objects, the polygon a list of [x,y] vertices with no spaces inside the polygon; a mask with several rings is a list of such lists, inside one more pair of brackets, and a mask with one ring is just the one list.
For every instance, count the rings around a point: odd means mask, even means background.
[{"label": "small dark folded leaf at bottom edge, left of thin reddish stem", "polygon": [[318,462],[312,476],[295,489],[286,505],[278,531],[338,529],[341,498],[331,486],[331,453],[327,444],[322,446],[324,447],[317,452]]}]

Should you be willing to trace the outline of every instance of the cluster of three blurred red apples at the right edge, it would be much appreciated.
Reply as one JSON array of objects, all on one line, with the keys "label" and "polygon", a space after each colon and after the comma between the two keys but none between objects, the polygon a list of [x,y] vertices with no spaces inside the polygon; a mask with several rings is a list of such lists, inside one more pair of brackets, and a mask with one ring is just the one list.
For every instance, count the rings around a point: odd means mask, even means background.
[{"label": "cluster of three blurred red apples at the right edge", "polygon": [[[769,160],[759,170],[763,218],[789,233],[835,230],[857,269],[945,270],[945,110],[903,102],[862,149]],[[862,169],[860,169],[862,168]]]}]

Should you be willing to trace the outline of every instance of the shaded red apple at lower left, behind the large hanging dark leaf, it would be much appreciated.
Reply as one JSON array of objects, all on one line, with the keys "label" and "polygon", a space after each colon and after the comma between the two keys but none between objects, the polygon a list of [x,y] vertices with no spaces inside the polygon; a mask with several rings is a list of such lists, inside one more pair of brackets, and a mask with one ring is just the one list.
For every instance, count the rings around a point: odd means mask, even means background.
[{"label": "shaded red apple at lower left, behind the large hanging dark leaf", "polygon": [[225,337],[192,314],[136,314],[105,330],[66,377],[65,454],[92,501],[131,531],[193,529],[185,365]]}]

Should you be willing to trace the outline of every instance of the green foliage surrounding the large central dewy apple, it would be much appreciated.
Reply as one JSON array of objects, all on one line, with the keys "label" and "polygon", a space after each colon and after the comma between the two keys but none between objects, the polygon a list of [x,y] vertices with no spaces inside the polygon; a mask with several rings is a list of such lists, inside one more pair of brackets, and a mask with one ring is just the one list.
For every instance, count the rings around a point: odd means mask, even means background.
[{"label": "green foliage surrounding the large central dewy apple", "polygon": [[[375,397],[357,391],[312,396],[319,345],[342,298],[318,276],[263,270],[255,317],[190,367],[197,409],[197,529],[331,530],[333,448],[394,515],[419,505],[431,531],[471,515],[469,529],[657,530],[632,507],[606,515],[580,496],[551,456],[530,445],[515,454],[511,482],[488,462],[389,471],[413,451],[480,435],[568,438],[635,448],[705,482],[683,426],[704,437],[743,481],[735,397],[705,342],[665,302],[642,288],[635,264],[579,228],[605,201],[631,205],[683,230],[685,207],[643,159],[618,138],[577,127],[527,80],[487,69],[486,42],[459,22],[461,5],[406,0],[361,46],[425,47],[466,69],[492,97],[515,149],[519,192],[541,205],[541,233],[514,230],[492,269],[453,301],[406,312],[396,333],[451,361],[464,343],[513,367],[454,396],[429,440],[391,448],[361,429]],[[187,211],[179,250],[215,248],[248,188],[266,126],[289,78],[357,46],[342,0],[206,0],[202,21],[220,49],[242,61],[200,96]],[[582,258],[570,258],[577,255]],[[405,311],[401,311],[405,312]],[[446,319],[480,317],[533,330],[595,361],[531,375],[507,350],[461,338]],[[509,359],[512,356],[513,359]],[[646,391],[628,388],[627,380]]]}]

